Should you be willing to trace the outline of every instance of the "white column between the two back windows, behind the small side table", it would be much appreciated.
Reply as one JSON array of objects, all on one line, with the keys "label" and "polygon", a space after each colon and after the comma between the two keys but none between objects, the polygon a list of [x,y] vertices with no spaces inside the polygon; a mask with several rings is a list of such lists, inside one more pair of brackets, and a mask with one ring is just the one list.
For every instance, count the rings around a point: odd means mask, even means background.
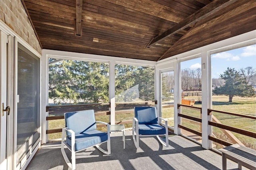
[{"label": "white column between the two back windows, behind the small side table", "polygon": [[115,124],[115,61],[109,63],[109,102],[110,102],[110,124]]}]

